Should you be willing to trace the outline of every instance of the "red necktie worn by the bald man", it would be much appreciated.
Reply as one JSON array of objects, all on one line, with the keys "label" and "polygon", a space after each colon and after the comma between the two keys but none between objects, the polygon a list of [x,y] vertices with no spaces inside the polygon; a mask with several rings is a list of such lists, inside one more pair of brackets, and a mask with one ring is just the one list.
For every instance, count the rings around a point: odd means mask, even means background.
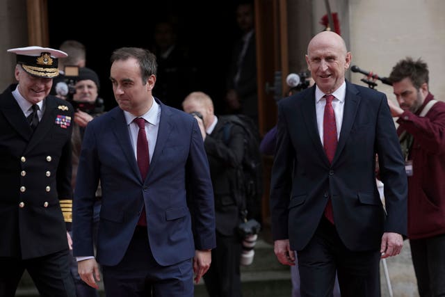
[{"label": "red necktie worn by the bald man", "polygon": [[[332,163],[334,159],[335,150],[337,150],[337,125],[335,124],[335,114],[332,108],[332,100],[335,98],[333,95],[325,95],[326,105],[325,114],[323,115],[323,146],[327,159]],[[334,214],[332,212],[332,201],[328,198],[325,216],[330,222],[334,223]]]}]

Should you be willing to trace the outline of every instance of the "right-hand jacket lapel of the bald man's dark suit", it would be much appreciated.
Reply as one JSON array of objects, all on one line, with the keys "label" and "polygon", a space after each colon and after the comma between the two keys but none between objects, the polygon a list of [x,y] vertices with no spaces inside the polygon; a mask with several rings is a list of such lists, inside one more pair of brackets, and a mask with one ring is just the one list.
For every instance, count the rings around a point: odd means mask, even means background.
[{"label": "right-hand jacket lapel of the bald man's dark suit", "polygon": [[346,139],[348,139],[350,135],[350,130],[353,127],[355,115],[357,114],[357,109],[359,106],[359,102],[362,98],[358,95],[357,89],[346,81],[346,95],[345,95],[345,106],[343,110],[343,122],[341,123],[341,131],[339,144],[337,145],[337,150],[335,152],[334,159],[332,163],[334,163],[341,154],[341,151],[346,145]]}]

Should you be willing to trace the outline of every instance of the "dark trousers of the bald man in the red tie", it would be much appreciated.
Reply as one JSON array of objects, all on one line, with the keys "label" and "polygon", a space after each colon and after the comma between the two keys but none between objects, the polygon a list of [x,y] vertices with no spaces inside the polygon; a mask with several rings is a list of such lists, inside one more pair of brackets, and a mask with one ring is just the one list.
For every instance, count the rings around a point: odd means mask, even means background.
[{"label": "dark trousers of the bald man in the red tie", "polygon": [[348,250],[324,216],[308,245],[298,251],[302,297],[332,296],[337,270],[341,297],[380,296],[380,251]]}]

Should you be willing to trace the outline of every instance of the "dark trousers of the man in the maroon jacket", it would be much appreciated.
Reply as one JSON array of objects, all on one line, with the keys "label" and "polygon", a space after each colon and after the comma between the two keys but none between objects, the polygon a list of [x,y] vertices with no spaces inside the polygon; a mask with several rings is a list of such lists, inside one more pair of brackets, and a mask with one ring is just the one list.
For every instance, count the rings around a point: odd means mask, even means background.
[{"label": "dark trousers of the man in the maroon jacket", "polygon": [[410,247],[419,296],[445,296],[445,234],[411,239]]}]

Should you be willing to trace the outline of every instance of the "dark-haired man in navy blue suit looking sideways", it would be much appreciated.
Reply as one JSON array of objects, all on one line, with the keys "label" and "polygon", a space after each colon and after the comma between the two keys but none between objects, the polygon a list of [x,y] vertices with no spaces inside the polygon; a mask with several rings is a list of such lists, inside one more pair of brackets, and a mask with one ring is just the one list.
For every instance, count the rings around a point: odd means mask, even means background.
[{"label": "dark-haired man in navy blue suit looking sideways", "polygon": [[[107,296],[193,296],[193,273],[199,282],[216,246],[213,188],[200,128],[193,116],[152,96],[156,57],[151,52],[115,50],[110,78],[119,106],[86,127],[77,172],[73,248],[79,274],[97,288],[99,262]],[[136,124],[140,120],[142,127]],[[146,177],[137,161],[138,131],[144,129]],[[93,257],[99,181],[102,209]]]}]

